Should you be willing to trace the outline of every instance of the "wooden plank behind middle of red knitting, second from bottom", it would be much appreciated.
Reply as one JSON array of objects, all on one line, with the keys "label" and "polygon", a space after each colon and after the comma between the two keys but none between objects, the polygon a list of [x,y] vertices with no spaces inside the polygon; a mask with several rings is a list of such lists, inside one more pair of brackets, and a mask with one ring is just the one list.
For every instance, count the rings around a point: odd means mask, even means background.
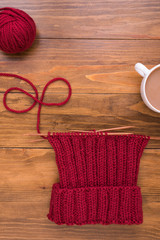
[{"label": "wooden plank behind middle of red knitting, second from bottom", "polygon": [[[0,149],[0,202],[46,202],[59,182],[53,149]],[[160,149],[145,149],[138,185],[145,197],[158,201]]]}]

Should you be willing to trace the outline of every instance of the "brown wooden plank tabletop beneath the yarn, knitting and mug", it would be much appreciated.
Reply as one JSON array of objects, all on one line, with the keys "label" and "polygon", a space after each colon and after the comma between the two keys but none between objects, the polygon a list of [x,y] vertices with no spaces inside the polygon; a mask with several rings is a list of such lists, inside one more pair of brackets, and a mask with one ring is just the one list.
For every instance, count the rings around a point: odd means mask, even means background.
[{"label": "brown wooden plank tabletop beneath the yarn, knitting and mug", "polygon": [[[160,63],[159,0],[0,0],[0,7],[20,8],[37,25],[37,38],[25,53],[0,52],[0,72],[29,78],[39,92],[53,77],[73,88],[63,107],[43,107],[42,132],[134,125],[135,133],[160,136],[160,115],[142,102],[141,77],[134,64]],[[4,91],[27,84],[0,78],[0,239],[105,240],[160,239],[160,142],[150,141],[141,159],[142,225],[57,226],[46,218],[52,184],[58,181],[55,155],[47,141],[30,142],[36,133],[37,106],[25,114],[7,112]],[[66,96],[62,83],[49,87],[46,101]],[[10,94],[17,109],[32,103]]]}]

